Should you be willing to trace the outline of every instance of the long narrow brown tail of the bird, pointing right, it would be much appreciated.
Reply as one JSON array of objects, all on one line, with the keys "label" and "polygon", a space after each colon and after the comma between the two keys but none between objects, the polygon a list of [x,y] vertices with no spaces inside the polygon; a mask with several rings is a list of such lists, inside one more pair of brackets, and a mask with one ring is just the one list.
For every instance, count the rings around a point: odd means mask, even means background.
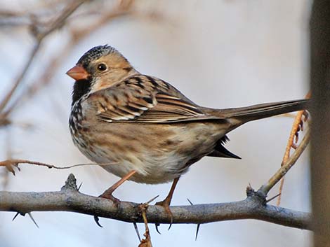
[{"label": "long narrow brown tail of the bird, pointing right", "polygon": [[309,99],[282,101],[258,104],[255,106],[246,106],[242,108],[230,108],[221,111],[221,114],[223,114],[225,118],[237,118],[242,122],[249,122],[261,118],[269,118],[274,115],[290,113],[292,111],[301,111],[308,108],[309,104]]}]

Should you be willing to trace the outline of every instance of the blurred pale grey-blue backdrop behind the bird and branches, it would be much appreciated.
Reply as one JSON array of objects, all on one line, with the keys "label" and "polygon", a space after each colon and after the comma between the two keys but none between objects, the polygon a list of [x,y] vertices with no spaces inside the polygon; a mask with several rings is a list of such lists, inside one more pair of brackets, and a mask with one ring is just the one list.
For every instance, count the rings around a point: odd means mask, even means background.
[{"label": "blurred pale grey-blue backdrop behind the bird and branches", "polygon": [[[76,1],[77,2],[77,1]],[[70,1],[9,1],[0,8],[0,100],[13,87],[42,31]],[[65,75],[95,45],[117,48],[142,73],[162,78],[202,106],[247,106],[304,97],[308,92],[310,2],[277,1],[86,1],[41,42],[26,76],[4,110],[0,160],[8,157],[58,166],[87,163],[68,129],[74,81]],[[31,28],[32,27],[32,28]],[[6,112],[6,111],[3,111]],[[204,158],[178,183],[172,205],[232,202],[245,188],[277,171],[292,124],[277,117],[251,122],[229,134],[227,148],[242,160]],[[81,192],[100,195],[117,178],[100,167],[70,170],[21,165],[14,177],[1,169],[1,190],[60,190],[73,173]],[[308,155],[286,176],[282,204],[310,211]],[[170,184],[127,182],[114,195],[131,202],[164,198]],[[277,188],[270,196],[277,194]],[[34,212],[28,217],[0,212],[0,246],[138,246],[132,224],[76,213]],[[140,232],[144,231],[139,225]],[[310,246],[311,233],[256,220],[202,225],[150,225],[154,246]]]}]

